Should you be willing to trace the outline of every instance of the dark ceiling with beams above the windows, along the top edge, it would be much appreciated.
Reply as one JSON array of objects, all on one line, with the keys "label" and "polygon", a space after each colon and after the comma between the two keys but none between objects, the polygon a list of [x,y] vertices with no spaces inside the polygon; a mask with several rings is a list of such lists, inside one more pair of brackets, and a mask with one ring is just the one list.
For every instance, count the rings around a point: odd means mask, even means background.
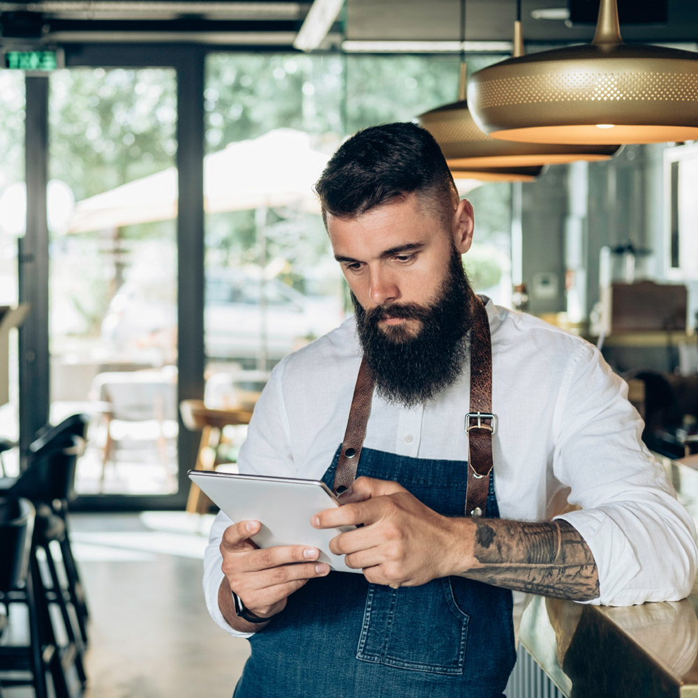
[{"label": "dark ceiling with beams above the windows, along the top edge", "polygon": [[[668,22],[629,24],[639,0],[619,0],[626,41],[695,43],[698,0],[665,0]],[[659,0],[653,0],[658,3]],[[533,19],[531,13],[569,3],[598,6],[598,0],[523,0],[523,34],[528,43],[579,43],[593,36],[592,24],[563,19]],[[1,43],[27,36],[55,42],[97,40],[193,41],[247,46],[289,47],[311,7],[290,0],[0,0]],[[467,0],[466,38],[473,42],[510,42],[515,0]],[[624,14],[625,13],[625,14]],[[630,14],[628,14],[630,13]],[[593,13],[592,13],[593,14]],[[459,0],[346,0],[325,46],[350,41],[457,41]],[[477,47],[477,46],[475,46]],[[493,49],[493,47],[491,47]],[[500,47],[500,50],[501,47]]]}]

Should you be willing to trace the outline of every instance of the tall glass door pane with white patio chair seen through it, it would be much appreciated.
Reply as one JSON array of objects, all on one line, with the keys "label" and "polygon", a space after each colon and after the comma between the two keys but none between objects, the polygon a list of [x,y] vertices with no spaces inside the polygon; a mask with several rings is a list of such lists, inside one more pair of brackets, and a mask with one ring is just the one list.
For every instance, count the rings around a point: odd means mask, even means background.
[{"label": "tall glass door pane with white patio chair seen through it", "polygon": [[177,73],[50,75],[50,419],[90,416],[79,495],[177,492]]}]

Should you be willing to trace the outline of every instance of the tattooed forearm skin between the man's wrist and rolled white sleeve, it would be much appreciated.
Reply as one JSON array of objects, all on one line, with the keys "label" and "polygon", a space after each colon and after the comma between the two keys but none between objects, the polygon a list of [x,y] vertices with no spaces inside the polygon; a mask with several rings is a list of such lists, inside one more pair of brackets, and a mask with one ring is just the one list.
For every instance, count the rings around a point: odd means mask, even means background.
[{"label": "tattooed forearm skin between the man's wrist and rolled white sleeve", "polygon": [[575,601],[599,595],[591,550],[567,521],[479,519],[475,526],[475,558],[484,566],[463,577]]}]

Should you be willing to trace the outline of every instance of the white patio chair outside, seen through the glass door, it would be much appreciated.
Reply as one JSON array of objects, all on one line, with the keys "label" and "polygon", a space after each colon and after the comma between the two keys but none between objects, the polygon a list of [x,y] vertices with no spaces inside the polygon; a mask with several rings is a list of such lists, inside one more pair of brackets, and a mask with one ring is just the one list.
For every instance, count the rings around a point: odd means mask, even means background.
[{"label": "white patio chair outside, seen through the glass door", "polygon": [[107,463],[117,466],[119,447],[143,442],[156,447],[168,479],[173,479],[168,441],[177,438],[177,369],[99,373],[91,395],[104,429],[101,483]]}]

